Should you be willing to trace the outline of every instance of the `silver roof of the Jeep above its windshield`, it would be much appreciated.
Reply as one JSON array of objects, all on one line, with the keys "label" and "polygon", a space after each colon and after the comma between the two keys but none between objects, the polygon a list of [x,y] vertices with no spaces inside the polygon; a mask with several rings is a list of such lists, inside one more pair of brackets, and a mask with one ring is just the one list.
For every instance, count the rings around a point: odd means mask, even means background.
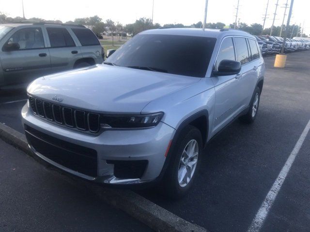
[{"label": "silver roof of the Jeep above its windshield", "polygon": [[255,37],[248,32],[236,29],[201,29],[201,28],[163,28],[142,31],[141,34],[167,34],[167,35],[188,35],[188,36],[202,36],[211,38],[222,38],[227,35],[247,36],[255,39]]}]

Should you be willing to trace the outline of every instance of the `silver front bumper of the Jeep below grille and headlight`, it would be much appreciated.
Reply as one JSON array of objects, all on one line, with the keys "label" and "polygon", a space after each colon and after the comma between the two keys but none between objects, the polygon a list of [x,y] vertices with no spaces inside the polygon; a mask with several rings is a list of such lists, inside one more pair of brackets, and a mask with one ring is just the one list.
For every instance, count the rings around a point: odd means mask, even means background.
[{"label": "silver front bumper of the Jeep below grille and headlight", "polygon": [[[156,127],[144,130],[108,130],[100,134],[91,135],[69,128],[64,128],[32,114],[26,104],[22,109],[22,123],[24,128],[39,131],[42,135],[73,144],[96,152],[96,175],[78,172],[67,165],[62,165],[49,159],[45,151],[38,152],[27,138],[31,150],[41,159],[62,169],[65,172],[81,178],[106,184],[138,184],[150,182],[161,173],[166,157],[167,147],[174,136],[175,130],[160,122]],[[27,132],[26,132],[27,134]],[[44,136],[37,136],[44,141]],[[49,142],[48,142],[49,143]],[[58,143],[59,144],[59,143]],[[61,146],[61,145],[60,145]],[[111,161],[138,161],[147,160],[143,174],[139,178],[119,178],[115,174],[115,164]],[[75,162],[72,159],[72,162]],[[124,163],[124,162],[123,162]]]}]

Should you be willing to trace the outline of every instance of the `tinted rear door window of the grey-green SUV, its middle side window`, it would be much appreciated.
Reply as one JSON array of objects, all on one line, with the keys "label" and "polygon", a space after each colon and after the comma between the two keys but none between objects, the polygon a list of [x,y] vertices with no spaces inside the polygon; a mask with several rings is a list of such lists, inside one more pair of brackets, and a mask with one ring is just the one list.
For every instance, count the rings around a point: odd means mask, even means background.
[{"label": "tinted rear door window of the grey-green SUV, its middle side window", "polygon": [[47,28],[47,34],[51,47],[75,46],[71,35],[65,28]]}]

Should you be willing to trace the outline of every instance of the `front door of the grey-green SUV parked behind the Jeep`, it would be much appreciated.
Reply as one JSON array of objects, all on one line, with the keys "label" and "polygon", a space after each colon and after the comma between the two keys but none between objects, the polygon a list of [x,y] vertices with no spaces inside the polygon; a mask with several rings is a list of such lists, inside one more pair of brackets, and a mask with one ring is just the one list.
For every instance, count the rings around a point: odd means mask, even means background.
[{"label": "front door of the grey-green SUV parked behind the Jeep", "polygon": [[18,29],[8,42],[18,43],[19,49],[0,51],[4,85],[29,83],[50,72],[50,56],[41,26]]}]

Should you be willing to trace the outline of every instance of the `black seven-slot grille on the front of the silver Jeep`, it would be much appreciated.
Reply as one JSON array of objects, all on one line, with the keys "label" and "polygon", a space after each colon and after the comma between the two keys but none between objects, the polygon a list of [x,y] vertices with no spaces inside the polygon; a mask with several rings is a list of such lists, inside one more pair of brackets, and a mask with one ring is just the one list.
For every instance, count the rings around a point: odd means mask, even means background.
[{"label": "black seven-slot grille on the front of the silver Jeep", "polygon": [[33,114],[46,118],[49,121],[93,133],[97,133],[100,129],[99,114],[42,101],[32,96],[29,96],[29,104]]}]

